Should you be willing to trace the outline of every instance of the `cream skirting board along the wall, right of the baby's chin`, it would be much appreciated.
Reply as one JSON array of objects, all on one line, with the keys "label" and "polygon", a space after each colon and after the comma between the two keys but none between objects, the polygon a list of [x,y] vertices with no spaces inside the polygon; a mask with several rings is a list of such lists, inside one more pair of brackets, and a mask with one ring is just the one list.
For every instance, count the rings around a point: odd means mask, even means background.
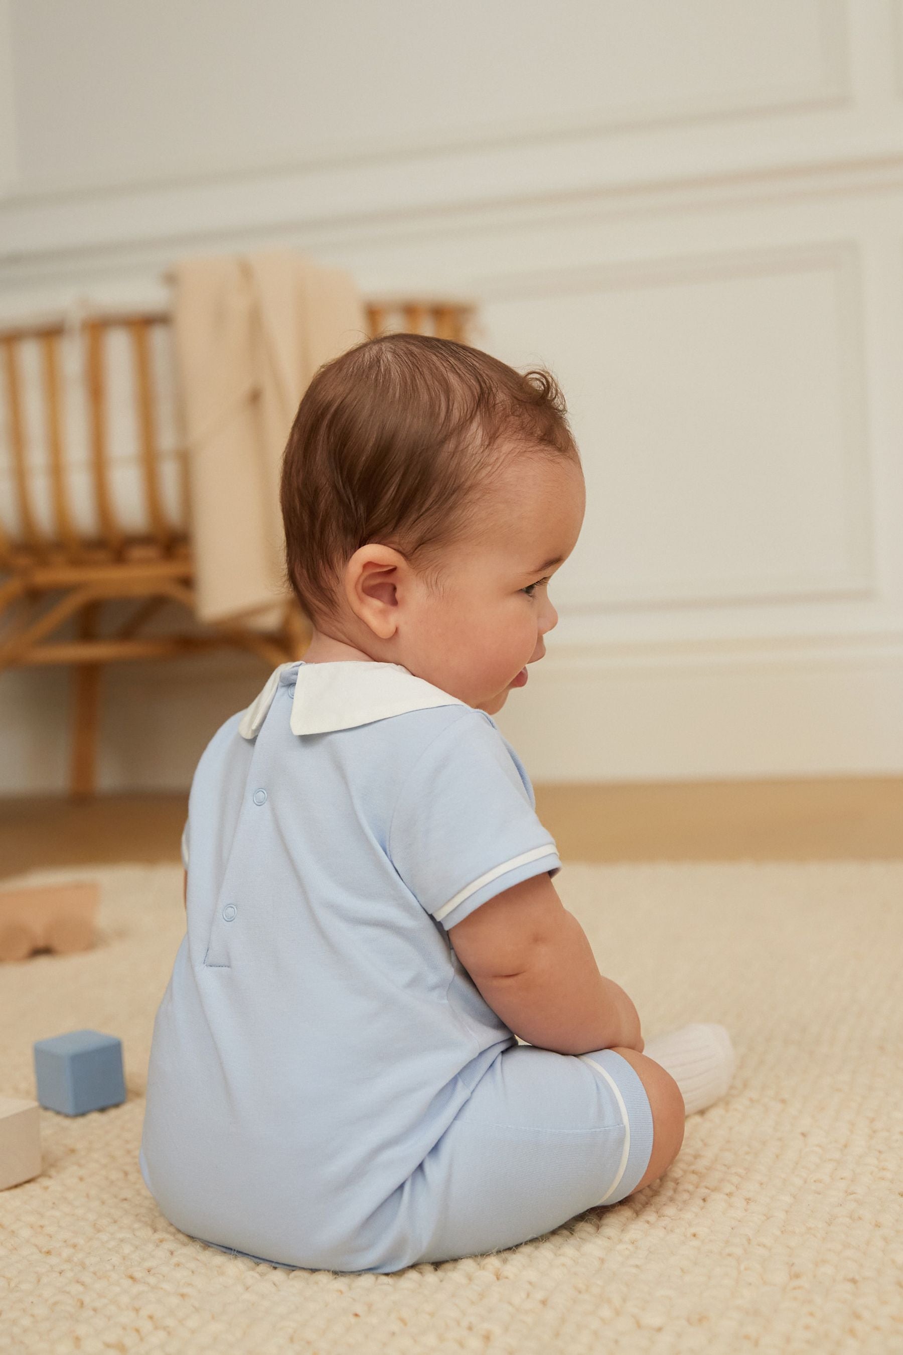
[{"label": "cream skirting board along the wall, right of the baby's chin", "polygon": [[536,782],[899,775],[902,679],[903,652],[556,667],[497,718]]}]

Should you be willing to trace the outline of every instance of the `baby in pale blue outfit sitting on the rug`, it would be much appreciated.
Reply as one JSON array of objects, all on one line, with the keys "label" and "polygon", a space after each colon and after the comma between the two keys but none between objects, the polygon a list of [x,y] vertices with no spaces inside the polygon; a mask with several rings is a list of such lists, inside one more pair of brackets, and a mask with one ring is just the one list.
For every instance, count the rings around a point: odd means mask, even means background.
[{"label": "baby in pale blue outfit sitting on the rug", "polygon": [[142,1175],[176,1228],[275,1264],[512,1247],[657,1180],[734,1072],[723,1026],[644,1046],[491,718],[583,518],[560,393],[364,343],[301,402],[282,509],[313,640],[195,772]]}]

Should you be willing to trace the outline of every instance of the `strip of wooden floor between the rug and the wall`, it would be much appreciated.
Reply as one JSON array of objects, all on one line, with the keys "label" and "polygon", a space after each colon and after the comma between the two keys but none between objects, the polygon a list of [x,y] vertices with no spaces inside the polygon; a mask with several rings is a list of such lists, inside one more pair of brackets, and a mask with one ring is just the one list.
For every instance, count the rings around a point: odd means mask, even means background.
[{"label": "strip of wooden floor between the rug and the wall", "polygon": [[[185,795],[0,799],[0,878],[179,859]],[[537,786],[566,860],[903,858],[903,778]]]}]

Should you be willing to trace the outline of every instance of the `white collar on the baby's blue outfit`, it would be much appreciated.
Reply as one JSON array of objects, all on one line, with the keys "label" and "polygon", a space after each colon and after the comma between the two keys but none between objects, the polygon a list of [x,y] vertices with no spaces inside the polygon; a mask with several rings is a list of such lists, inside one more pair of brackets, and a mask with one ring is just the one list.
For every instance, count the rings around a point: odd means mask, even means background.
[{"label": "white collar on the baby's blue outfit", "polygon": [[[296,673],[290,675],[290,669],[296,669]],[[422,678],[414,678],[401,664],[366,660],[280,664],[241,718],[238,733],[244,738],[257,737],[279,683],[288,683],[292,676],[295,678],[290,720],[292,734],[328,734],[334,729],[355,729],[375,720],[405,715],[409,710],[464,705],[440,687],[433,687]]]}]

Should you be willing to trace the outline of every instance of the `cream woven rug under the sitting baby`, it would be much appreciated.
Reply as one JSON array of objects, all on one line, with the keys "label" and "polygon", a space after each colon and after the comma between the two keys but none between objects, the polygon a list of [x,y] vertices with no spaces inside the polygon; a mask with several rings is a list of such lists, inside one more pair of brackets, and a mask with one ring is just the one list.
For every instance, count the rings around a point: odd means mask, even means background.
[{"label": "cream woven rug under the sitting baby", "polygon": [[1,967],[0,1091],[34,1095],[32,1041],[91,1026],[122,1038],[129,1099],[45,1111],[43,1175],[0,1195],[4,1355],[903,1351],[903,862],[566,866],[646,1038],[723,1022],[734,1087],[639,1196],[397,1275],[276,1270],[161,1218],[138,1142],[181,871],[76,875],[103,881],[100,944]]}]

